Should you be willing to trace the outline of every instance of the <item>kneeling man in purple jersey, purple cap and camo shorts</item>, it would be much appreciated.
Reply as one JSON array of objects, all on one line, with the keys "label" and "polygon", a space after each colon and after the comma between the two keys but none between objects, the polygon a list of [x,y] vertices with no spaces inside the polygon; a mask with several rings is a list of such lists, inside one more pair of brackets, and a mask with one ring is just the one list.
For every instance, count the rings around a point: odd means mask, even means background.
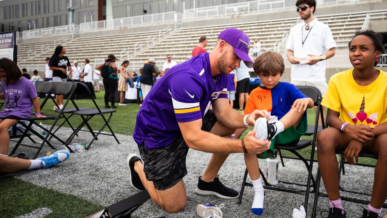
[{"label": "kneeling man in purple jersey, purple cap and camo shorts", "polygon": [[183,177],[189,148],[213,153],[196,193],[228,199],[239,196],[217,177],[228,155],[269,149],[269,140],[256,139],[254,131],[244,140],[229,139],[235,129],[254,126],[260,117],[269,119],[267,111],[240,114],[228,102],[226,74],[241,61],[253,67],[249,50],[250,39],[243,31],[225,29],[209,54],[171,67],[144,99],[133,134],[144,164],[136,154],[128,156],[130,183],[146,189],[166,211],[177,212],[187,205]]}]

